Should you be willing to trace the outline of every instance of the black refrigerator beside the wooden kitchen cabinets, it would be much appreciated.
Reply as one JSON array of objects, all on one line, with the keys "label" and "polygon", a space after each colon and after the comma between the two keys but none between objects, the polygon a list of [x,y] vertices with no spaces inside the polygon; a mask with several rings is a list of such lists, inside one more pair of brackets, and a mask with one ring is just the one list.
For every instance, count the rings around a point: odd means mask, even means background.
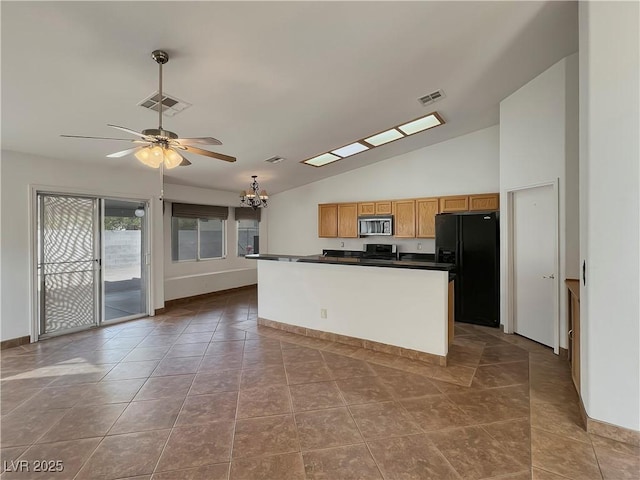
[{"label": "black refrigerator beside the wooden kitchen cabinets", "polygon": [[436,261],[454,263],[455,320],[500,325],[498,212],[436,215]]}]

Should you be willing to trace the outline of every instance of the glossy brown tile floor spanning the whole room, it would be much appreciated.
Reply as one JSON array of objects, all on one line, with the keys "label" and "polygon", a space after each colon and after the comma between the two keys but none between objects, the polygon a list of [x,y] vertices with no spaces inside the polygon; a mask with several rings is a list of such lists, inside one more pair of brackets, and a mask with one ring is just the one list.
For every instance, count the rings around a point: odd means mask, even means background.
[{"label": "glossy brown tile floor spanning the whole room", "polygon": [[245,290],[2,351],[1,478],[640,478],[538,344],[461,325],[443,368],[256,316]]}]

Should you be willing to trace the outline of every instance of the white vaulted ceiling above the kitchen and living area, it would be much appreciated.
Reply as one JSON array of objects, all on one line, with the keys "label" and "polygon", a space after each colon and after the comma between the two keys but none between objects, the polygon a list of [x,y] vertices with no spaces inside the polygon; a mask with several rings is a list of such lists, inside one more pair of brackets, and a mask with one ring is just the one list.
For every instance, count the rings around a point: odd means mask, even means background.
[{"label": "white vaulted ceiling above the kitchen and living area", "polygon": [[[192,104],[164,127],[238,158],[187,155],[168,181],[240,190],[256,174],[270,193],[494,125],[500,100],[578,48],[575,2],[2,2],[1,17],[3,149],[147,168],[105,158],[123,142],[59,135],[156,128],[137,103],[164,49],[164,90]],[[432,110],[447,124],[299,163]]]}]

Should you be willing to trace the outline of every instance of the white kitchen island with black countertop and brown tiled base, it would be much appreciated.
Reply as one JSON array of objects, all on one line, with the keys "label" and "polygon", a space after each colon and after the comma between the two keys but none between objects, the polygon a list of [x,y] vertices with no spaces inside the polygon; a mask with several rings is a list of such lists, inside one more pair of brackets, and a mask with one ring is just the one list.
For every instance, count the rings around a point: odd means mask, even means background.
[{"label": "white kitchen island with black countertop and brown tiled base", "polygon": [[322,255],[247,258],[259,260],[261,325],[446,365],[454,265]]}]

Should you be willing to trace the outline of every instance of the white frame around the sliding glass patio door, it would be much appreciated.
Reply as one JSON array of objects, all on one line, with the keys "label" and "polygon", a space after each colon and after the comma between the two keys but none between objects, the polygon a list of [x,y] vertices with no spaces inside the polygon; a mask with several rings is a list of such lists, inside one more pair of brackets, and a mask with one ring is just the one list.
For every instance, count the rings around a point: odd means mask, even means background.
[{"label": "white frame around the sliding glass patio door", "polygon": [[[39,317],[39,309],[38,309],[38,193],[47,194],[50,193],[52,195],[77,195],[83,197],[92,197],[92,198],[112,198],[112,199],[120,199],[120,200],[131,200],[138,202],[146,202],[147,204],[147,236],[145,241],[145,249],[147,258],[149,261],[147,262],[147,279],[148,279],[148,292],[147,292],[147,315],[153,315],[153,305],[154,303],[154,290],[155,290],[155,281],[154,281],[154,266],[153,266],[153,244],[154,244],[154,233],[153,233],[153,223],[151,222],[151,218],[154,215],[154,202],[152,198],[144,198],[124,194],[124,193],[113,193],[113,192],[105,192],[105,191],[96,191],[96,190],[85,190],[81,188],[69,188],[62,187],[56,185],[42,185],[42,184],[30,184],[27,187],[29,201],[28,201],[28,211],[29,211],[29,278],[31,281],[29,282],[29,327],[30,327],[30,342],[34,343],[38,341],[38,334],[40,331],[40,317]],[[99,227],[101,228],[101,227]],[[102,282],[102,274],[100,274],[100,281]],[[126,321],[126,320],[123,320]]]}]

